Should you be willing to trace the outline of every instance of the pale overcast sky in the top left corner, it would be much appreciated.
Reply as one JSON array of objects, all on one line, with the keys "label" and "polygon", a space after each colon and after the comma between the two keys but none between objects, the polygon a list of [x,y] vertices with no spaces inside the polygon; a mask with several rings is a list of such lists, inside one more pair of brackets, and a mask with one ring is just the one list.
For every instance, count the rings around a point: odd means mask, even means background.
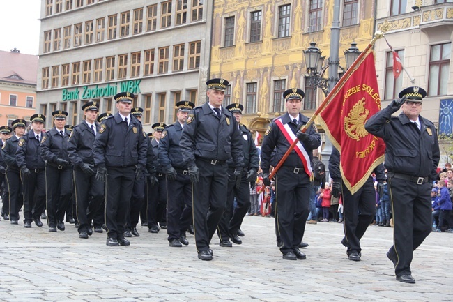
[{"label": "pale overcast sky in the top left corner", "polygon": [[0,50],[38,54],[40,0],[0,0]]}]

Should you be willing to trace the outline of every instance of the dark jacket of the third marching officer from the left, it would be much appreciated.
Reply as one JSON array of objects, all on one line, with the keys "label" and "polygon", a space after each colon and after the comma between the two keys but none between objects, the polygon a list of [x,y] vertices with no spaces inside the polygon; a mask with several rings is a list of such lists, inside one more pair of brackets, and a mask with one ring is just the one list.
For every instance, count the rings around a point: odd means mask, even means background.
[{"label": "dark jacket of the third marching officer from the left", "polygon": [[[41,133],[40,137],[43,137]],[[31,130],[19,139],[16,151],[16,161],[19,167],[26,166],[29,169],[44,169],[44,160],[40,153],[41,142]]]}]

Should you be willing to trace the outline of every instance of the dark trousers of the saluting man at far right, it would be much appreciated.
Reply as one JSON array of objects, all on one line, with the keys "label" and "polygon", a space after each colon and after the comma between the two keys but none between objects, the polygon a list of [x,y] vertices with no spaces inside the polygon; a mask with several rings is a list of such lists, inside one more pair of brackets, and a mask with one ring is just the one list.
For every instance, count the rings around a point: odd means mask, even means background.
[{"label": "dark trousers of the saluting man at far right", "polygon": [[410,275],[413,251],[431,233],[431,183],[417,185],[395,178],[389,178],[387,183],[394,225],[389,252],[397,260],[395,275]]}]

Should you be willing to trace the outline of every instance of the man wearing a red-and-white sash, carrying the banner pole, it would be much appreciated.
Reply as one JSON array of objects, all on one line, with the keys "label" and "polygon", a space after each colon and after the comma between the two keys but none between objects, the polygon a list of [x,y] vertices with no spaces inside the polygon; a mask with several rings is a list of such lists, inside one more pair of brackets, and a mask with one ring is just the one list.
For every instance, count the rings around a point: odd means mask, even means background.
[{"label": "man wearing a red-and-white sash, carrying the banner pole", "polygon": [[[275,167],[279,163],[296,137],[300,141],[275,176],[276,218],[283,242],[280,251],[286,260],[306,258],[298,246],[302,242],[309,214],[310,190],[313,186],[310,163],[313,150],[321,145],[321,135],[314,125],[305,133],[300,130],[309,121],[307,116],[300,114],[304,95],[304,91],[296,88],[283,93],[287,112],[270,123],[261,146],[261,169],[265,176],[263,181],[266,186],[270,186],[270,165]],[[272,156],[274,149],[275,156]]]}]

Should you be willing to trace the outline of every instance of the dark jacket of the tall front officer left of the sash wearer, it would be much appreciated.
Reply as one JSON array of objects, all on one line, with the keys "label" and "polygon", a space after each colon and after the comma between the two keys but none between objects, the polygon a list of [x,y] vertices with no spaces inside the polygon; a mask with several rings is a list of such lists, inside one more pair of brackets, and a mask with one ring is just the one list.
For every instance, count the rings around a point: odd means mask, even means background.
[{"label": "dark jacket of the tall front officer left of the sash wearer", "polygon": [[187,166],[194,163],[198,157],[222,161],[233,158],[235,167],[243,167],[238,123],[233,114],[224,107],[220,122],[208,103],[195,107],[187,116],[179,145]]}]

